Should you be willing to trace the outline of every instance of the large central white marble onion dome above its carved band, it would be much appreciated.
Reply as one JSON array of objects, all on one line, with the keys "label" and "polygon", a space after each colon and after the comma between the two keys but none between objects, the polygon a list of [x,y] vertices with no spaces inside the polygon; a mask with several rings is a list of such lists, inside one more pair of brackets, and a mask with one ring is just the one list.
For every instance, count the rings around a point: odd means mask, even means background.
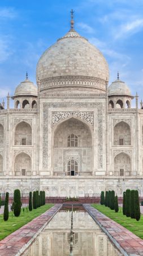
[{"label": "large central white marble onion dome above its carved band", "polygon": [[102,53],[70,30],[63,38],[46,49],[37,63],[37,80],[51,77],[84,76],[109,80],[109,67]]}]

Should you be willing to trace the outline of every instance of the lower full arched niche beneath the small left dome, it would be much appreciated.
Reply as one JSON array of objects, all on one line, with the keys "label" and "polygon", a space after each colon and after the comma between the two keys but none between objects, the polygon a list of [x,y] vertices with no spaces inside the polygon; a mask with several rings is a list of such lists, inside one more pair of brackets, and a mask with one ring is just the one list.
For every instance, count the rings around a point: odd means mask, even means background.
[{"label": "lower full arched niche beneath the small left dome", "polygon": [[31,176],[31,157],[24,152],[15,157],[15,176]]}]

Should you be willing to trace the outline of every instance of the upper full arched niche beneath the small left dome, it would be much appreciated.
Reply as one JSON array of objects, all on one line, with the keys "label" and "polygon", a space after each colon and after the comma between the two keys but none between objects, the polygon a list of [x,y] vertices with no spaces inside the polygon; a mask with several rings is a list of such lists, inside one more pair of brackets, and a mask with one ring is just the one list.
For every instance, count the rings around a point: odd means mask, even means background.
[{"label": "upper full arched niche beneath the small left dome", "polygon": [[20,122],[15,128],[15,145],[31,145],[32,129],[29,123]]}]

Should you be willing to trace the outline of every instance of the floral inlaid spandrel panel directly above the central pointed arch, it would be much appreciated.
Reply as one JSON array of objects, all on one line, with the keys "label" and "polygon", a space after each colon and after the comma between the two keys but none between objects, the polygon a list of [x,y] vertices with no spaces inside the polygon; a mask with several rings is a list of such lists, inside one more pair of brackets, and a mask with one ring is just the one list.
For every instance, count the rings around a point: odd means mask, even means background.
[{"label": "floral inlaid spandrel panel directly above the central pointed arch", "polygon": [[57,123],[68,117],[78,117],[83,119],[84,121],[88,122],[93,129],[93,112],[53,112],[51,127],[53,128],[55,125],[57,125]]}]

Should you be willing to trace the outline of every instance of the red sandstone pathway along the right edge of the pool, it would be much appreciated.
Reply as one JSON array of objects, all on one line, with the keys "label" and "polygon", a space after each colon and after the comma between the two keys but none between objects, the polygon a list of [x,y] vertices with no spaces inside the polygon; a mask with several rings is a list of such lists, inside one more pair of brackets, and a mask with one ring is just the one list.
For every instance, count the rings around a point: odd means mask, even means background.
[{"label": "red sandstone pathway along the right edge of the pool", "polygon": [[105,233],[109,235],[109,237],[111,236],[113,240],[122,247],[122,249],[127,253],[126,255],[143,255],[143,240],[141,238],[111,220],[97,209],[91,207],[90,204],[84,204],[84,207],[88,212],[90,212],[93,218],[97,220],[101,229],[106,229],[106,231],[104,230]]}]

